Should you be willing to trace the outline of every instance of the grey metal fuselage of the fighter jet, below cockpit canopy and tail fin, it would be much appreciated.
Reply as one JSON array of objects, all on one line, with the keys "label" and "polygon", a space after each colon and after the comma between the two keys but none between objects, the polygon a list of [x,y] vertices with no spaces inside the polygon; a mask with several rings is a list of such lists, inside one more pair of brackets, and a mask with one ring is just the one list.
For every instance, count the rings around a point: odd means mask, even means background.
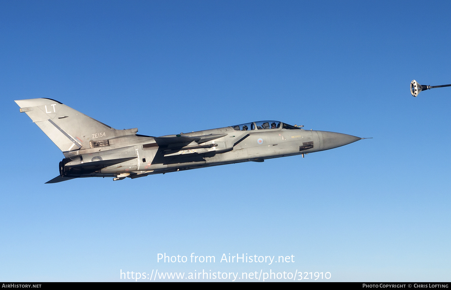
[{"label": "grey metal fuselage of the fighter jet, below cockpit canopy and tail fin", "polygon": [[[79,172],[82,176],[136,178],[206,166],[246,161],[261,162],[264,159],[323,151],[360,140],[355,136],[325,131],[282,128],[237,131],[233,127],[170,135],[168,138],[177,139],[177,136],[212,138],[215,135],[219,137],[203,143],[187,141],[158,144],[158,138],[136,135],[109,139],[109,146],[64,153],[65,157],[71,160],[65,166],[80,164],[82,161],[136,157],[105,168],[93,168],[94,171],[88,168]],[[67,170],[65,176],[74,177],[71,173],[78,174],[77,170]]]}]

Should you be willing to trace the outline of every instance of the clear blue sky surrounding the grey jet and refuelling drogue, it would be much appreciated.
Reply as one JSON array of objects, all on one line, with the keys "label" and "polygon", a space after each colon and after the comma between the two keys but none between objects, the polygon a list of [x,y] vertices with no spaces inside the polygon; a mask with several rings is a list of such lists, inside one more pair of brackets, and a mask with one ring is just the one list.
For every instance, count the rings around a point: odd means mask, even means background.
[{"label": "clear blue sky surrounding the grey jet and refuelling drogue", "polygon": [[[450,281],[449,1],[1,1],[0,280],[331,272]],[[373,137],[263,163],[44,184],[17,99],[166,134],[256,120]],[[157,253],[214,264],[157,262]],[[294,255],[225,264],[223,253]],[[124,279],[122,279],[124,281]]]}]

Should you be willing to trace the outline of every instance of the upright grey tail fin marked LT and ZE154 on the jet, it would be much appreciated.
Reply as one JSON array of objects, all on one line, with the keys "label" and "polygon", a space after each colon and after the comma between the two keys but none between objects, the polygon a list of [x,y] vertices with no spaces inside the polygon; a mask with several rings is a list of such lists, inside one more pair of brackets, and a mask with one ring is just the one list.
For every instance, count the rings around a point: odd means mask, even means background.
[{"label": "upright grey tail fin marked LT and ZE154 on the jet", "polygon": [[[87,149],[98,141],[136,133],[116,130],[52,99],[15,101],[62,152]],[[132,132],[130,132],[132,131]]]}]

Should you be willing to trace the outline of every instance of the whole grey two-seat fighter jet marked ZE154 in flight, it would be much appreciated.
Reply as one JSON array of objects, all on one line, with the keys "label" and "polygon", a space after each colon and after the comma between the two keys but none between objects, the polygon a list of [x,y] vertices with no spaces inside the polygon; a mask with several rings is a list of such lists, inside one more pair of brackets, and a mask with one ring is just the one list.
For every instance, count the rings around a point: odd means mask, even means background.
[{"label": "whole grey two-seat fighter jet marked ZE154 in flight", "polygon": [[46,183],[78,177],[137,178],[207,166],[303,155],[363,139],[304,130],[279,121],[180,133],[161,137],[116,130],[59,101],[15,101],[64,154],[60,175]]}]

